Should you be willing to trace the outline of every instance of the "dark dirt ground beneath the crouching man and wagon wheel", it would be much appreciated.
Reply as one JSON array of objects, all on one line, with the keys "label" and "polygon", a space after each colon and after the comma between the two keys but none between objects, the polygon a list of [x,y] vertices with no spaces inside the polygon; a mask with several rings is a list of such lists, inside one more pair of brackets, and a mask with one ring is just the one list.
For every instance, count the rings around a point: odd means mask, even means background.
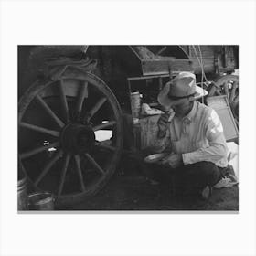
[{"label": "dark dirt ground beneath the crouching man and wagon wheel", "polygon": [[96,196],[60,210],[239,210],[239,187],[214,189],[207,200],[175,197],[169,188],[153,185],[132,166],[117,172]]}]

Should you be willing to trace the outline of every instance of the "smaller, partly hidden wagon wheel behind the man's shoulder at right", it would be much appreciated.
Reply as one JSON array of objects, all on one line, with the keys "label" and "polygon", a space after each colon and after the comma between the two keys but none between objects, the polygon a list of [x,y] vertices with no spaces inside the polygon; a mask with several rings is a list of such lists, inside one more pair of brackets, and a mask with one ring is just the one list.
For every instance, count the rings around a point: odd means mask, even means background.
[{"label": "smaller, partly hidden wagon wheel behind the man's shoulder at right", "polygon": [[208,96],[227,95],[236,123],[239,123],[239,77],[225,75],[213,82]]}]

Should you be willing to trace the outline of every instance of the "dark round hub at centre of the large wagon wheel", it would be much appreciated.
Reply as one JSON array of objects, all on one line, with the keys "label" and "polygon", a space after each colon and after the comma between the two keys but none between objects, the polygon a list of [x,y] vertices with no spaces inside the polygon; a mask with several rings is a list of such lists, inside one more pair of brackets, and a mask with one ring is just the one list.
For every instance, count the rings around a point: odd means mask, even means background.
[{"label": "dark round hub at centre of the large wagon wheel", "polygon": [[95,134],[89,125],[69,123],[60,135],[60,142],[66,152],[86,153],[95,143]]}]

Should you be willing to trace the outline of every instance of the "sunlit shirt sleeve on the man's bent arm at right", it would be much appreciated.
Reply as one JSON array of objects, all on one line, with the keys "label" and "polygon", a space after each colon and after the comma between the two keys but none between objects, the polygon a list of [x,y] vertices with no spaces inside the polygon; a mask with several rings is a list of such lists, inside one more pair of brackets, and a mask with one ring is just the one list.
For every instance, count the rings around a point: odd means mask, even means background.
[{"label": "sunlit shirt sleeve on the man's bent arm at right", "polygon": [[205,136],[208,147],[199,148],[194,152],[182,155],[184,165],[208,161],[217,164],[219,160],[228,155],[228,147],[223,133],[223,127],[217,112],[210,110],[205,123]]}]

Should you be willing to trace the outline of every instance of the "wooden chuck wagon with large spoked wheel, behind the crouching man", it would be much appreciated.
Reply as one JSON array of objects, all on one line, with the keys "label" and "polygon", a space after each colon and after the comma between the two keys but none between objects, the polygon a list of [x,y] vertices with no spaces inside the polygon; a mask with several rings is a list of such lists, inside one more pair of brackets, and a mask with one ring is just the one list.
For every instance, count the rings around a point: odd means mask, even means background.
[{"label": "wooden chuck wagon with large spoked wheel, behind the crouching man", "polygon": [[236,46],[19,46],[19,174],[59,204],[92,196],[127,150],[131,92],[155,106],[167,80],[193,71],[236,114],[237,68]]}]

